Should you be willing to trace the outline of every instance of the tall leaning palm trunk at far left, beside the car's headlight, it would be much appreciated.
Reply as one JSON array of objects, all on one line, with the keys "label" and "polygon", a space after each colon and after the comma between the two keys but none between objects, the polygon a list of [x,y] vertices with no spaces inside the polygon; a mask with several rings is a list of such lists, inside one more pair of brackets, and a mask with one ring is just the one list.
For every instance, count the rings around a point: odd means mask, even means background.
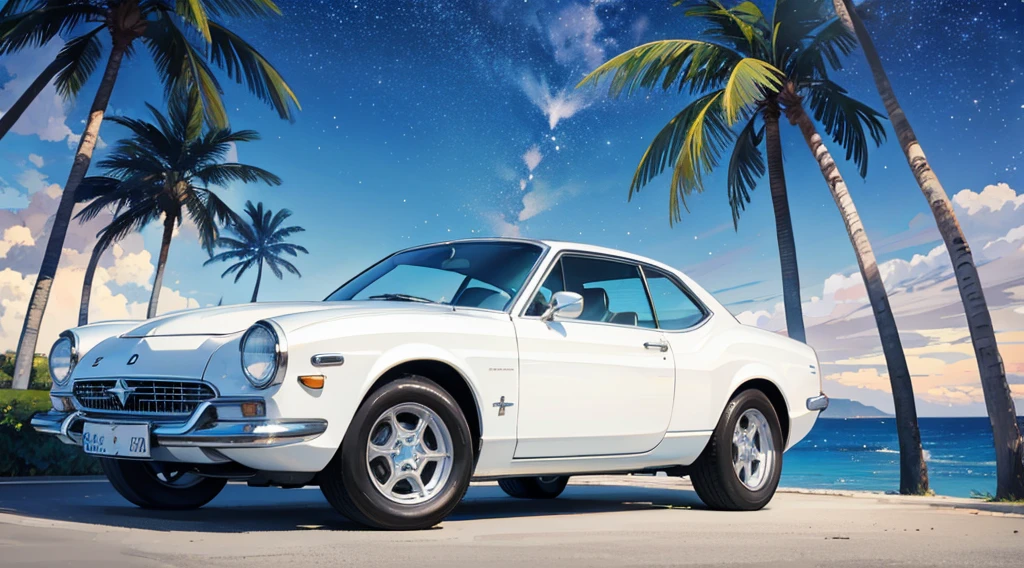
[{"label": "tall leaning palm trunk at far left, beside the car's headlight", "polygon": [[46,302],[50,297],[53,276],[56,274],[57,264],[60,262],[60,251],[63,248],[68,225],[71,223],[71,216],[75,209],[75,190],[85,178],[89,164],[92,162],[92,150],[96,147],[96,139],[99,137],[99,126],[103,122],[103,114],[111,100],[111,92],[114,91],[114,85],[117,83],[118,71],[121,69],[121,60],[124,58],[127,48],[128,44],[115,42],[111,49],[103,78],[89,111],[85,131],[82,132],[82,139],[78,143],[78,151],[75,154],[71,174],[68,175],[68,182],[65,183],[63,192],[60,194],[60,203],[53,215],[53,226],[50,228],[49,241],[46,243],[46,252],[43,253],[43,262],[39,267],[39,275],[36,276],[36,286],[32,290],[29,307],[25,313],[22,337],[17,341],[17,356],[14,360],[12,385],[15,389],[29,387],[29,374],[32,370],[36,343],[39,341],[39,327],[43,322],[43,312],[46,310]]}]

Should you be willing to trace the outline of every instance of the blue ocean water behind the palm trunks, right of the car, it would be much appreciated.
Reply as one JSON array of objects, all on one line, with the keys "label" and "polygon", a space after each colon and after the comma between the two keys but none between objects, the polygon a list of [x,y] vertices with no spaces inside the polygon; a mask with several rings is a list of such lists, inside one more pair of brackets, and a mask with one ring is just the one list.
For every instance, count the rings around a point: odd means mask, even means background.
[{"label": "blue ocean water behind the palm trunks, right of the car", "polygon": [[[1024,418],[1019,418],[1024,428]],[[940,495],[995,492],[995,450],[987,418],[920,419],[932,489]],[[899,490],[893,419],[819,420],[782,461],[782,487]]]}]

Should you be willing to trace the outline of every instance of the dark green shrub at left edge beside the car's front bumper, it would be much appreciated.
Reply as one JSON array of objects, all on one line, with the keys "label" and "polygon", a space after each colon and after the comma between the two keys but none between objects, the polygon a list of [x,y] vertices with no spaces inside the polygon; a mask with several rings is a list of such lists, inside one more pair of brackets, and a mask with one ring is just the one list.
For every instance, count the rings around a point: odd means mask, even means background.
[{"label": "dark green shrub at left edge beside the car's front bumper", "polygon": [[0,477],[101,473],[99,463],[82,448],[29,425],[33,413],[49,408],[46,391],[0,390]]}]

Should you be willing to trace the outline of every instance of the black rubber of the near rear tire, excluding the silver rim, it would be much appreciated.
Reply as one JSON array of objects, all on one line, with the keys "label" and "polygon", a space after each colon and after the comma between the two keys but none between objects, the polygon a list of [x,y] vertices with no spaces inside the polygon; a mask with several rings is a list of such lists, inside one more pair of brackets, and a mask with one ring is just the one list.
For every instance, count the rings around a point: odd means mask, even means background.
[{"label": "black rubber of the near rear tire, excluding the silver rim", "polygon": [[[767,420],[771,433],[771,466],[765,469],[768,476],[761,486],[753,490],[740,481],[733,469],[732,434],[743,412],[756,409]],[[708,447],[690,470],[690,480],[697,496],[710,509],[720,511],[757,511],[768,505],[782,474],[782,429],[778,416],[768,397],[759,390],[745,390],[737,394],[725,407],[722,418],[712,434]]]}]

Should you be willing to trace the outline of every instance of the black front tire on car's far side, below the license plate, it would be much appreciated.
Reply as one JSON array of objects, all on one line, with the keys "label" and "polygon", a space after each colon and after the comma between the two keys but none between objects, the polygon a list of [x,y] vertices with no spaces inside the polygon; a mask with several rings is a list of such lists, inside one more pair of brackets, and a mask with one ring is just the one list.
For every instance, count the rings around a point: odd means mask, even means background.
[{"label": "black front tire on car's far side, below the license plate", "polygon": [[227,483],[226,479],[174,472],[173,464],[103,457],[99,465],[117,492],[142,509],[199,509],[217,496]]}]

